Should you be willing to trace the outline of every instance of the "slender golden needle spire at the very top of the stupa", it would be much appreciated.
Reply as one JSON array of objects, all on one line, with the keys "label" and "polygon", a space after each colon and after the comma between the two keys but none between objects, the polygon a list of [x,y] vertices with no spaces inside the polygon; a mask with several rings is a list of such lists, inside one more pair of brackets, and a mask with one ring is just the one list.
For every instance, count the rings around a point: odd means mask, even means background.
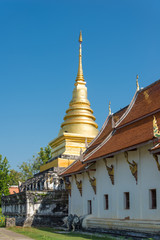
[{"label": "slender golden needle spire at the very top of the stupa", "polygon": [[82,69],[82,32],[80,31],[79,34],[79,66],[78,66],[78,73],[77,73],[77,78],[76,82],[84,82],[84,77],[83,77],[83,69]]}]

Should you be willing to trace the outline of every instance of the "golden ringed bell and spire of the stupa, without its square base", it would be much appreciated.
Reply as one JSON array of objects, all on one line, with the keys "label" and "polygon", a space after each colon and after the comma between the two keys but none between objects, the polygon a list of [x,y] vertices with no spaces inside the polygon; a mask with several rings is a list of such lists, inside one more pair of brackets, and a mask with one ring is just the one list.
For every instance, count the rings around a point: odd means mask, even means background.
[{"label": "golden ringed bell and spire of the stupa, without its square base", "polygon": [[82,33],[79,36],[79,66],[72,100],[66,111],[64,122],[61,125],[59,135],[73,133],[85,137],[95,137],[98,134],[98,125],[95,122],[93,110],[87,99],[87,87],[83,77],[82,69]]}]

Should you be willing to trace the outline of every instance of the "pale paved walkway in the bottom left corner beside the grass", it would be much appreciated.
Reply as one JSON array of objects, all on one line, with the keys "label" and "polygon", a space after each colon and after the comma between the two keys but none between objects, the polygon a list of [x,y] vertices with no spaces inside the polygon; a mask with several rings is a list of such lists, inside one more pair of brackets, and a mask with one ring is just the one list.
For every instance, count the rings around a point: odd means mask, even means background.
[{"label": "pale paved walkway in the bottom left corner beside the grass", "polygon": [[33,240],[33,238],[12,232],[6,228],[0,228],[0,240]]}]

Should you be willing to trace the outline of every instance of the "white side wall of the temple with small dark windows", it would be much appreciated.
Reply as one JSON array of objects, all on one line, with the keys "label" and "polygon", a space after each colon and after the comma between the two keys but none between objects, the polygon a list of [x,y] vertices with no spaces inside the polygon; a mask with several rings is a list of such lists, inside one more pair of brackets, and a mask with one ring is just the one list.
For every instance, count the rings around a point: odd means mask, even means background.
[{"label": "white side wall of the temple with small dark windows", "polygon": [[[135,151],[128,151],[128,160],[138,164],[138,181],[131,173],[124,153],[107,159],[107,165],[114,165],[114,185],[111,183],[103,160],[96,162],[96,195],[89,182],[87,173],[78,174],[83,177],[82,197],[77,189],[75,180],[72,183],[71,213],[85,215],[88,213],[88,200],[92,201],[92,216],[112,219],[148,219],[160,220],[160,171],[153,155],[148,149],[151,144],[140,147]],[[156,189],[157,206],[151,209],[150,189]],[[125,209],[125,192],[129,193],[129,209]],[[105,209],[105,197],[108,194],[109,208]]]}]

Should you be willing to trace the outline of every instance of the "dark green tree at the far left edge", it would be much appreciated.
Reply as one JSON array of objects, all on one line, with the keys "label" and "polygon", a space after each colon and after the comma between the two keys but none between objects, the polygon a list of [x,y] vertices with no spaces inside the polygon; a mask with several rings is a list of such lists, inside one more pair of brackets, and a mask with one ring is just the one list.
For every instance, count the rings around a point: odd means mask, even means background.
[{"label": "dark green tree at the far left edge", "polygon": [[10,175],[8,160],[6,157],[2,159],[2,155],[0,155],[0,205],[1,197],[9,194],[9,183]]}]

